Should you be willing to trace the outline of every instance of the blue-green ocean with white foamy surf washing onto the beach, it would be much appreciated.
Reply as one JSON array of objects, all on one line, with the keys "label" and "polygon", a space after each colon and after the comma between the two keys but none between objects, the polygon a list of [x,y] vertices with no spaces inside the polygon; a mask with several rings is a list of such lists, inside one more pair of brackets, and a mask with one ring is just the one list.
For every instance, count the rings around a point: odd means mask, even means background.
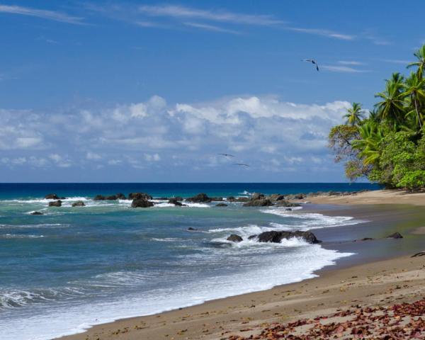
[{"label": "blue-green ocean with white foamy surf washing onto the beach", "polygon": [[[0,339],[45,340],[93,324],[154,314],[314,277],[351,253],[289,239],[249,241],[266,230],[356,225],[350,216],[188,203],[130,208],[96,194],[249,196],[377,189],[369,183],[3,183],[0,184]],[[64,196],[60,208],[44,196]],[[76,200],[84,207],[72,208]],[[43,215],[30,215],[39,211]],[[195,231],[188,231],[191,227]],[[239,234],[243,242],[227,242]]]}]

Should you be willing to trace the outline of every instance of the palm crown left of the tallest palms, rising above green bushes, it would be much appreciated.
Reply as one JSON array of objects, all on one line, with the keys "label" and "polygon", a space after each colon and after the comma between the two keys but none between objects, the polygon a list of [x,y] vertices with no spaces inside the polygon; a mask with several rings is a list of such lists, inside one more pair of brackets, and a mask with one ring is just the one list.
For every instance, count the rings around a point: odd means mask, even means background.
[{"label": "palm crown left of the tallest palms, rising above green bushes", "polygon": [[402,79],[399,74],[392,74],[392,79],[387,80],[385,84],[385,91],[375,94],[375,97],[382,99],[375,106],[383,120],[395,120],[400,123],[400,116],[404,109]]}]

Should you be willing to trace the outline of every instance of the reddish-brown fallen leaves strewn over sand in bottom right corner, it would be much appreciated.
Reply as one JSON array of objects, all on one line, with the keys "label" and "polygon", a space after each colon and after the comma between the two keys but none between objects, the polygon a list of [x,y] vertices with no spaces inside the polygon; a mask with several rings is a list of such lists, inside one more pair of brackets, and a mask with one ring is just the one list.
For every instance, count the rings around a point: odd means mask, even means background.
[{"label": "reddish-brown fallen leaves strewn over sand in bottom right corner", "polygon": [[256,334],[232,335],[226,339],[425,339],[424,316],[425,299],[389,307],[356,305],[329,316],[298,319],[285,324],[273,323],[260,327]]}]

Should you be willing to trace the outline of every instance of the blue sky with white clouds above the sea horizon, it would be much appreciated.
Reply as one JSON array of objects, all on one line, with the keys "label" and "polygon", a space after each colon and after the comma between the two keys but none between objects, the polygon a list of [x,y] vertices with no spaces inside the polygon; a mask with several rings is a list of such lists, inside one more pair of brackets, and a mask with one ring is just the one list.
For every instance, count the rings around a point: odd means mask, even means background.
[{"label": "blue sky with white clouds above the sea horizon", "polygon": [[0,182],[346,181],[329,128],[407,72],[424,9],[0,0]]}]

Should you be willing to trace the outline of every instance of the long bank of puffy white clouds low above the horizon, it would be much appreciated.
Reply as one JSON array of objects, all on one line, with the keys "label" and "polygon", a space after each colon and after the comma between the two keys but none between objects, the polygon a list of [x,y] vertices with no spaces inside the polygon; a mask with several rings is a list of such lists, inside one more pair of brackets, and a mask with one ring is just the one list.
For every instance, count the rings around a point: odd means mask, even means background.
[{"label": "long bank of puffy white clouds low above the horizon", "polygon": [[[34,168],[211,169],[236,155],[273,173],[327,166],[327,134],[350,104],[291,103],[276,96],[232,96],[166,103],[160,96],[111,107],[52,112],[0,110],[1,163]],[[180,169],[180,170],[179,170]],[[244,171],[249,171],[245,169]]]}]

